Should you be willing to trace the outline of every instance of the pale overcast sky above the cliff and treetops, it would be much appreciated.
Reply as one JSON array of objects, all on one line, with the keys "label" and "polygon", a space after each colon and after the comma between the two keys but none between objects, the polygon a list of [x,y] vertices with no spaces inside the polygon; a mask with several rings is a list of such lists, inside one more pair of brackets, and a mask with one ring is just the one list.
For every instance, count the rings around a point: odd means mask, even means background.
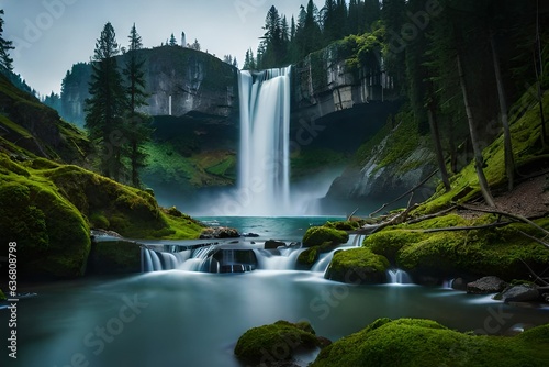
[{"label": "pale overcast sky above the cliff and treetops", "polygon": [[[107,22],[127,46],[135,22],[145,47],[159,46],[171,33],[197,38],[202,51],[236,56],[255,51],[271,5],[290,21],[307,0],[0,0],[4,33],[13,41],[14,71],[41,94],[59,92],[72,64],[88,62]],[[315,3],[322,8],[323,0]]]}]

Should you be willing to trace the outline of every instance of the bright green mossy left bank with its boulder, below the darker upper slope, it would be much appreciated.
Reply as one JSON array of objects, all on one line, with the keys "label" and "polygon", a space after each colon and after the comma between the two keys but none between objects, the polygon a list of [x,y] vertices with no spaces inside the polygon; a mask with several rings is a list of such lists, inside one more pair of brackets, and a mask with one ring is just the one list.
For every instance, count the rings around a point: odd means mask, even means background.
[{"label": "bright green mossy left bank with its boulder, below the darker upper slope", "polygon": [[90,227],[128,237],[197,238],[202,225],[172,216],[147,192],[47,159],[0,153],[0,237],[18,243],[21,277],[85,274]]}]

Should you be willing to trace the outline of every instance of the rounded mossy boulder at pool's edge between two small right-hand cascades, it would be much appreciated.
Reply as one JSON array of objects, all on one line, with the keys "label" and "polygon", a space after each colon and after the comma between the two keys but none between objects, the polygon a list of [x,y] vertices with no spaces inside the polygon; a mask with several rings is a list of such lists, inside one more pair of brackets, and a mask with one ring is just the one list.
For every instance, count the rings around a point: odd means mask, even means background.
[{"label": "rounded mossy boulder at pool's edge between two small right-hand cascades", "polygon": [[386,282],[389,260],[369,248],[337,251],[324,277],[326,279],[356,285]]}]

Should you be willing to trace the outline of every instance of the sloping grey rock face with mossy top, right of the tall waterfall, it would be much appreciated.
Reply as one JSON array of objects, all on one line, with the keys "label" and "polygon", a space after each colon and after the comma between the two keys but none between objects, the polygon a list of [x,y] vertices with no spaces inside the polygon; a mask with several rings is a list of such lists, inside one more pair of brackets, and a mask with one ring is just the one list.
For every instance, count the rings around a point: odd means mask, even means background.
[{"label": "sloping grey rock face with mossy top, right of the tall waterfall", "polygon": [[[414,188],[437,168],[429,136],[421,136],[407,119],[413,116],[400,114],[395,127],[385,125],[360,147],[355,162],[332,184],[325,207],[335,205],[347,212],[359,208],[361,214],[369,214]],[[434,188],[432,179],[415,190],[413,202],[430,197]],[[404,198],[397,207],[405,205],[408,199]]]}]

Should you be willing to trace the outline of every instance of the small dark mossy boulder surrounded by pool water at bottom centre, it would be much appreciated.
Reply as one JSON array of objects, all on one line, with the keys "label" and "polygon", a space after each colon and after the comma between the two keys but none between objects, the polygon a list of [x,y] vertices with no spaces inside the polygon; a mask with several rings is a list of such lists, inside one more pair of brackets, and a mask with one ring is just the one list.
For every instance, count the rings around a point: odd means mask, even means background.
[{"label": "small dark mossy boulder surrounded by pool water at bottom centre", "polygon": [[292,324],[280,320],[248,330],[238,338],[234,352],[248,365],[274,366],[281,360],[291,360],[295,352],[314,349],[323,343],[310,323]]}]

